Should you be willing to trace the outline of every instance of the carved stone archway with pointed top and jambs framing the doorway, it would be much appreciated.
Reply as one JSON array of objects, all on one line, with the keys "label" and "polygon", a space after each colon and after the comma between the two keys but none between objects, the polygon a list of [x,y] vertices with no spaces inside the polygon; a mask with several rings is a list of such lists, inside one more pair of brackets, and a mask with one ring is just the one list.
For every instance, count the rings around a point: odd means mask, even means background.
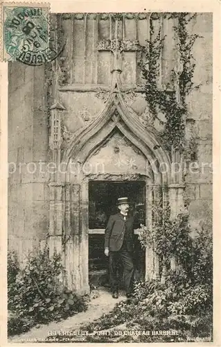
[{"label": "carved stone archway with pointed top and jambs framing the doorway", "polygon": [[[117,138],[118,137],[118,138]],[[121,139],[121,145],[116,143]],[[109,155],[108,146],[112,156]],[[111,164],[114,155],[124,152],[124,158],[139,158],[134,168],[117,169]],[[60,160],[60,152],[55,155]],[[105,160],[104,160],[105,158]],[[104,172],[96,172],[94,162],[105,162]],[[163,200],[170,199],[174,206],[182,201],[183,187],[173,180],[171,160],[163,150],[157,134],[143,127],[137,115],[125,105],[116,87],[109,96],[105,109],[87,128],[79,130],[62,158],[64,174],[50,184],[50,237],[51,252],[62,252],[67,287],[78,293],[89,291],[88,283],[88,181],[90,179],[137,179],[145,177],[146,196],[156,200],[163,185],[170,193],[163,193]],[[167,170],[161,171],[161,164]],[[71,171],[71,165],[74,170]],[[91,165],[87,172],[85,166]],[[177,209],[177,207],[175,208]],[[151,227],[152,213],[148,211],[146,223]],[[158,262],[152,249],[146,252],[145,278],[157,277]]]}]

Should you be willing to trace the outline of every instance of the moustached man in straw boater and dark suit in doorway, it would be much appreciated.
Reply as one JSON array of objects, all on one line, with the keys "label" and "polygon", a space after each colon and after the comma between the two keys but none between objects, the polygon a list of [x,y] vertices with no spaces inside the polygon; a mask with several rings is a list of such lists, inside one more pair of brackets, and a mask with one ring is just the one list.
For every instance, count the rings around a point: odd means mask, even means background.
[{"label": "moustached man in straw boater and dark suit in doorway", "polygon": [[123,282],[127,299],[132,296],[134,280],[134,217],[128,215],[128,198],[118,198],[119,212],[110,216],[105,229],[105,255],[109,256],[109,280],[113,298],[118,298],[118,260],[123,264]]}]

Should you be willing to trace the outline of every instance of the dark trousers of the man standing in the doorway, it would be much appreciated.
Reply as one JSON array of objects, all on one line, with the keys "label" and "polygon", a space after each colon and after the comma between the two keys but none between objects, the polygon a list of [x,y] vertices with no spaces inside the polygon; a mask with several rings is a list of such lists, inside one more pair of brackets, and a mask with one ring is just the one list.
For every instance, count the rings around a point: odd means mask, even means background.
[{"label": "dark trousers of the man standing in the doorway", "polygon": [[119,261],[123,264],[123,283],[127,294],[132,293],[132,286],[134,280],[134,264],[132,261],[132,253],[127,249],[121,248],[117,252],[109,252],[109,280],[112,292],[118,291],[119,280],[117,277],[117,270]]}]

